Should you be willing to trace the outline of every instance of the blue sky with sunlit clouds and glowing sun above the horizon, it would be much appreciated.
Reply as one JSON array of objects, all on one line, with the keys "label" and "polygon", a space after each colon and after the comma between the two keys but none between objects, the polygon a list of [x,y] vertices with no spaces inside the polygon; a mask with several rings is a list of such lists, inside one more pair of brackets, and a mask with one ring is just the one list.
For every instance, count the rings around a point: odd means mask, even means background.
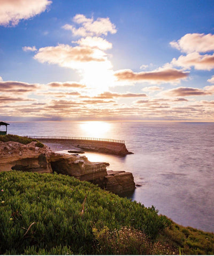
[{"label": "blue sky with sunlit clouds and glowing sun above the horizon", "polygon": [[1,121],[214,122],[213,0],[0,0]]}]

